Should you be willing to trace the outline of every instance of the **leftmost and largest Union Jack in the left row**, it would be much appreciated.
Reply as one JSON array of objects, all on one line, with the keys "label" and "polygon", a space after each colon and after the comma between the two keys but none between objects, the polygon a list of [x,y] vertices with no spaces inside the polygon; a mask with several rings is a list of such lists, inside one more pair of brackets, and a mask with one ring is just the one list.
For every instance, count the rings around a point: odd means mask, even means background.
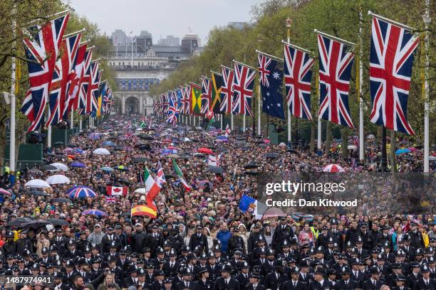
[{"label": "leftmost and largest Union Jack in the left row", "polygon": [[28,131],[41,127],[44,110],[48,102],[53,70],[58,58],[63,33],[68,23],[69,14],[56,18],[42,27],[31,26],[25,30],[31,38],[24,38],[30,89],[26,93],[21,112],[31,122]]}]

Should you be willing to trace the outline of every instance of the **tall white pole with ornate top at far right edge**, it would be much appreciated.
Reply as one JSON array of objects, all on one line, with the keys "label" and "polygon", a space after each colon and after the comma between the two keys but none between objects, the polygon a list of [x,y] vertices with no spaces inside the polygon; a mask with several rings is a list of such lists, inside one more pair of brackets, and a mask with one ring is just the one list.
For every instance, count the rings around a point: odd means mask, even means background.
[{"label": "tall white pole with ornate top at far right edge", "polygon": [[430,65],[430,60],[428,57],[428,26],[432,21],[429,11],[430,0],[425,0],[425,14],[422,15],[422,21],[425,23],[425,67],[424,67],[424,84],[422,85],[422,92],[424,96],[424,172],[429,172],[429,154],[430,154],[430,127],[429,127],[429,114],[430,114],[430,103],[429,103],[429,87],[428,87],[428,66]]}]

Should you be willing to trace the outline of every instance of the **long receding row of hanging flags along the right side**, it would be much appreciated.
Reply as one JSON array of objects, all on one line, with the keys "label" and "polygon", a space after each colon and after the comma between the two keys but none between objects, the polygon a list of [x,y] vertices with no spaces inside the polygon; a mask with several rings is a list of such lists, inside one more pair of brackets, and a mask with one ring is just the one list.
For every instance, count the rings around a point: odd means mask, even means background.
[{"label": "long receding row of hanging flags along the right side", "polygon": [[[355,45],[316,32],[318,118],[353,129],[348,95]],[[262,112],[285,119],[284,85],[289,114],[312,120],[311,84],[315,60],[310,51],[283,43],[283,59],[256,50],[258,68],[233,60],[233,68],[222,65],[221,73],[211,71],[210,77],[202,76],[201,85],[191,82],[155,97],[155,112],[166,115],[167,122],[172,124],[176,124],[179,114],[208,119],[212,119],[214,114],[253,116],[251,99],[257,70]],[[373,14],[369,71],[373,109],[370,122],[390,130],[415,134],[408,123],[407,105],[413,53],[418,43],[419,38],[407,26],[397,25],[394,21]]]}]

